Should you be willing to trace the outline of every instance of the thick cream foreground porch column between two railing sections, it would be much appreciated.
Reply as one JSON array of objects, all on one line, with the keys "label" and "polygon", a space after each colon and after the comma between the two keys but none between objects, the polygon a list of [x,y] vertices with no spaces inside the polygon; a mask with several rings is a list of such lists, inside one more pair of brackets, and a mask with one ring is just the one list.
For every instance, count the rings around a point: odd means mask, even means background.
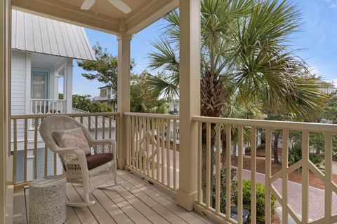
[{"label": "thick cream foreground porch column between two railing sections", "polygon": [[200,0],[180,0],[180,151],[177,202],[191,211],[197,197],[197,124],[200,115]]}]

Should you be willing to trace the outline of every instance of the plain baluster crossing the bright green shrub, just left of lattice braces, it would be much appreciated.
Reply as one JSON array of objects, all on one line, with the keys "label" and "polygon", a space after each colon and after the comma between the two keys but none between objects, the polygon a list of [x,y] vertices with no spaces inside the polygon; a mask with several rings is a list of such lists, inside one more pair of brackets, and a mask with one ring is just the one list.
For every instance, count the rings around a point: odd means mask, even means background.
[{"label": "plain baluster crossing the bright green shrub, just left of lattice braces", "polygon": [[251,224],[256,224],[256,130],[251,127]]}]

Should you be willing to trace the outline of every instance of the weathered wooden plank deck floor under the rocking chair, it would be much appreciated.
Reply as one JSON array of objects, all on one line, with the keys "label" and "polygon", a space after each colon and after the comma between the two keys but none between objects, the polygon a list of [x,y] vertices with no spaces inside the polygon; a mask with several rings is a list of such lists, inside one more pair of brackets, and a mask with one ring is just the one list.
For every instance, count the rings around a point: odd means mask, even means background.
[{"label": "weathered wooden plank deck floor under the rocking chair", "polygon": [[[126,171],[118,171],[121,186],[95,190],[91,207],[67,207],[66,223],[213,223],[205,216],[178,207],[171,195]],[[82,188],[67,185],[68,200],[81,202]],[[26,223],[23,193],[14,197],[14,223]]]}]

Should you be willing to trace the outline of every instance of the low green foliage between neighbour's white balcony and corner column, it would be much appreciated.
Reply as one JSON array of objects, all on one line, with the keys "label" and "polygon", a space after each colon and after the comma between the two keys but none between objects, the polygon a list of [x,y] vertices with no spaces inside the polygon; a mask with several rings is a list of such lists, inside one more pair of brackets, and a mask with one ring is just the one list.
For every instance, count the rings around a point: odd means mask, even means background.
[{"label": "low green foliage between neighbour's white balcony and corner column", "polygon": [[106,103],[93,102],[90,96],[72,95],[72,107],[90,113],[112,112],[112,106]]}]

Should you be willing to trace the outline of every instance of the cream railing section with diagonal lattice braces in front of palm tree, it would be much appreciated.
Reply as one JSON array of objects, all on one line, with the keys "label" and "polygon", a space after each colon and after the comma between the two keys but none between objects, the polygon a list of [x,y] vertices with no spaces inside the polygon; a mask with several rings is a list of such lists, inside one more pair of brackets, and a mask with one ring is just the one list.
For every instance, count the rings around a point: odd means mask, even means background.
[{"label": "cream railing section with diagonal lattice braces in front of palm tree", "polygon": [[[265,132],[265,223],[272,223],[272,209],[271,197],[274,195],[276,200],[282,206],[282,223],[288,223],[288,218],[291,216],[296,223],[336,223],[336,202],[333,202],[333,193],[337,194],[337,185],[332,180],[332,155],[333,155],[333,134],[337,133],[337,125],[326,125],[317,123],[292,123],[281,121],[266,121],[266,120],[236,120],[226,118],[210,118],[199,117],[193,118],[197,123],[199,129],[199,149],[198,149],[198,192],[197,202],[195,207],[199,211],[216,218],[218,221],[224,223],[243,223],[243,148],[244,144],[251,144],[251,172],[248,179],[251,180],[251,223],[256,223],[256,183],[257,183],[257,138],[258,132],[263,130]],[[276,174],[272,175],[272,132],[279,130],[282,132],[282,169]],[[301,159],[289,167],[289,132],[299,131],[301,133]],[[244,133],[249,133],[249,141],[245,142],[247,137]],[[325,169],[323,172],[318,169],[309,158],[310,155],[310,133],[323,133],[324,134],[324,151],[325,151]],[[236,134],[237,138],[232,138],[232,134]],[[237,221],[231,218],[231,168],[232,168],[232,140],[237,139],[238,145],[238,158],[237,158]],[[213,142],[212,142],[213,141]],[[212,156],[211,151],[214,152],[214,169],[211,172]],[[197,153],[196,152],[196,153]],[[222,155],[225,155],[225,162],[221,161]],[[206,173],[203,174],[203,164],[206,163]],[[221,188],[223,179],[220,175],[220,169],[226,169],[226,189]],[[294,211],[294,208],[289,204],[292,198],[289,198],[289,181],[288,175],[291,172],[301,168],[301,179],[299,192],[295,195],[299,196],[296,201],[296,207],[300,211]],[[245,171],[246,172],[246,171]],[[309,209],[310,202],[310,172],[315,174],[325,185],[322,198],[324,207],[324,214],[322,218],[312,220],[310,218]],[[214,188],[211,183],[211,174],[215,176]],[[246,172],[247,173],[247,172]],[[249,174],[249,172],[248,172]],[[206,175],[204,178],[203,175]],[[260,174],[259,174],[260,175]],[[275,182],[279,181],[281,189],[276,187]],[[213,190],[215,189],[215,190]],[[225,208],[220,207],[220,193],[225,192],[226,204]],[[214,196],[215,195],[215,196]],[[215,197],[215,200],[214,200]],[[213,199],[213,200],[212,200]],[[214,203],[215,201],[215,203]],[[310,202],[310,203],[309,203]],[[314,203],[315,204],[315,203]],[[331,214],[331,209],[333,213]]]}]

